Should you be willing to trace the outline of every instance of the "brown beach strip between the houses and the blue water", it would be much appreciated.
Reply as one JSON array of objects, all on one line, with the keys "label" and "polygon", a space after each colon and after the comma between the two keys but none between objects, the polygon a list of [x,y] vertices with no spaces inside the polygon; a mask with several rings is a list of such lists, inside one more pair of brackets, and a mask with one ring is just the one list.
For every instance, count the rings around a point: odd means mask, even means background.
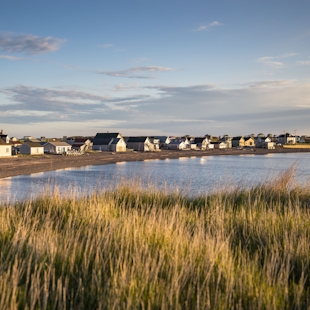
[{"label": "brown beach strip between the houses and the blue water", "polygon": [[180,157],[202,157],[202,156],[228,156],[228,155],[266,155],[278,153],[304,153],[310,152],[310,148],[285,149],[279,148],[274,150],[253,149],[253,150],[162,150],[160,152],[127,152],[127,153],[86,153],[80,156],[62,156],[62,155],[29,155],[17,157],[0,157],[0,179],[14,177],[19,175],[29,175],[32,173],[53,171],[66,168],[78,168],[93,165],[115,164],[117,162],[144,161],[154,159],[177,159]]}]

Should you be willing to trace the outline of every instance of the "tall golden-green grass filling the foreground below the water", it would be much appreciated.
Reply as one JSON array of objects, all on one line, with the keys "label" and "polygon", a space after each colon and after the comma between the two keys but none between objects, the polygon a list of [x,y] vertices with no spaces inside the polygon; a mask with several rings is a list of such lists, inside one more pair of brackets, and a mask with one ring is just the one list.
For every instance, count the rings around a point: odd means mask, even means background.
[{"label": "tall golden-green grass filling the foreground below the water", "polygon": [[120,186],[0,209],[0,309],[306,309],[310,189]]}]

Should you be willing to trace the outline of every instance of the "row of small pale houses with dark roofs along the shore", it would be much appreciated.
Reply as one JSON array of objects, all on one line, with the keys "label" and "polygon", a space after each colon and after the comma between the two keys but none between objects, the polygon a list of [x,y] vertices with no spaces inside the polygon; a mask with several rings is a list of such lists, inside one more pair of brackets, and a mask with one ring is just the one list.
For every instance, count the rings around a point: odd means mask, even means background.
[{"label": "row of small pale houses with dark roofs along the shore", "polygon": [[213,150],[213,149],[275,149],[278,147],[296,146],[310,148],[310,136],[292,135],[257,135],[230,137],[205,135],[194,137],[175,136],[122,136],[120,133],[97,133],[95,136],[64,136],[60,138],[34,138],[24,136],[22,139],[0,131],[0,157],[17,154],[40,155],[82,155],[85,152],[158,152],[165,150]]}]

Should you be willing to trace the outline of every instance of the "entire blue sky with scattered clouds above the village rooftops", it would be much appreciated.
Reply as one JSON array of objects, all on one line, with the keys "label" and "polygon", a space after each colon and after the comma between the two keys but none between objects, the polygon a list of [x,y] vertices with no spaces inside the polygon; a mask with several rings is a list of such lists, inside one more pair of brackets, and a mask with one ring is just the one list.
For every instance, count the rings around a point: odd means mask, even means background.
[{"label": "entire blue sky with scattered clouds above the village rooftops", "polygon": [[2,0],[11,137],[310,135],[309,0]]}]

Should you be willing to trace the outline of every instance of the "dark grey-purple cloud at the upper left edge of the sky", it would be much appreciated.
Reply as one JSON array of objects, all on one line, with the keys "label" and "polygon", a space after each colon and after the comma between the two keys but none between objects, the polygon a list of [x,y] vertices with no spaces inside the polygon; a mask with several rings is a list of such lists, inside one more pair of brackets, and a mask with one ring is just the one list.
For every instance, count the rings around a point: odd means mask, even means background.
[{"label": "dark grey-purple cloud at the upper left edge of the sky", "polygon": [[33,35],[0,34],[0,50],[28,55],[57,51],[66,40]]}]

